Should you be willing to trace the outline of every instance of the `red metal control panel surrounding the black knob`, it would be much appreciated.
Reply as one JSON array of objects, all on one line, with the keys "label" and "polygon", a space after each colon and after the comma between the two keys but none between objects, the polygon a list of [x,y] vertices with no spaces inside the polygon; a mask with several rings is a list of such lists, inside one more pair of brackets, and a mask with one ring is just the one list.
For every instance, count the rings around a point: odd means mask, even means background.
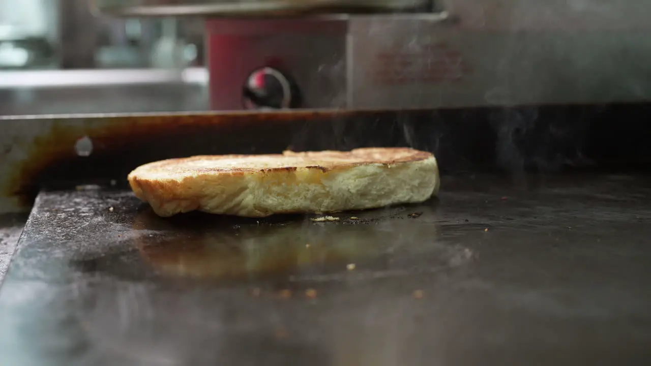
[{"label": "red metal control panel surrounding the black knob", "polygon": [[273,66],[296,81],[302,107],[346,107],[346,18],[331,20],[210,20],[211,106],[242,109],[249,74]]}]

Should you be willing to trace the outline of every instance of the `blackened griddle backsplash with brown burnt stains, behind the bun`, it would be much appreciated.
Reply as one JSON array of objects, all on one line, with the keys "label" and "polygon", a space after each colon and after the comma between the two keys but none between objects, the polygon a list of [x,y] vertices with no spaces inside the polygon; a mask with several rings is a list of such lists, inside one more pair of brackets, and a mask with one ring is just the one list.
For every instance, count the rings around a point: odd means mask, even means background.
[{"label": "blackened griddle backsplash with brown burnt stains, behind the bun", "polygon": [[[40,188],[55,184],[70,187],[113,181],[116,188],[126,188],[126,175],[143,163],[197,154],[279,153],[288,146],[296,151],[409,146],[434,152],[443,175],[648,171],[651,165],[650,104],[507,110],[296,110],[0,119],[3,132],[14,136],[0,150],[0,161],[16,151],[25,156],[11,162],[7,174],[0,177],[0,197],[18,197],[23,206],[29,206]],[[523,119],[527,128],[520,126]],[[35,139],[22,138],[25,124],[41,131]],[[79,139],[92,143],[88,156],[77,155],[74,147]]]}]

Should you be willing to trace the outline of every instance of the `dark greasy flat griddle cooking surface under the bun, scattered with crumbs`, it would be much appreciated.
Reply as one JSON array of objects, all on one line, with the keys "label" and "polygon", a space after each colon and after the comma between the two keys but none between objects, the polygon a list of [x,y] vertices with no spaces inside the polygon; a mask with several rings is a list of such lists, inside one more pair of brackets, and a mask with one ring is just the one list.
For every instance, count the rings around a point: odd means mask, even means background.
[{"label": "dark greasy flat griddle cooking surface under the bun, scattered with crumbs", "polygon": [[645,176],[447,178],[440,199],[314,223],[161,219],[130,192],[46,191],[0,289],[0,354],[648,364],[650,194]]}]

